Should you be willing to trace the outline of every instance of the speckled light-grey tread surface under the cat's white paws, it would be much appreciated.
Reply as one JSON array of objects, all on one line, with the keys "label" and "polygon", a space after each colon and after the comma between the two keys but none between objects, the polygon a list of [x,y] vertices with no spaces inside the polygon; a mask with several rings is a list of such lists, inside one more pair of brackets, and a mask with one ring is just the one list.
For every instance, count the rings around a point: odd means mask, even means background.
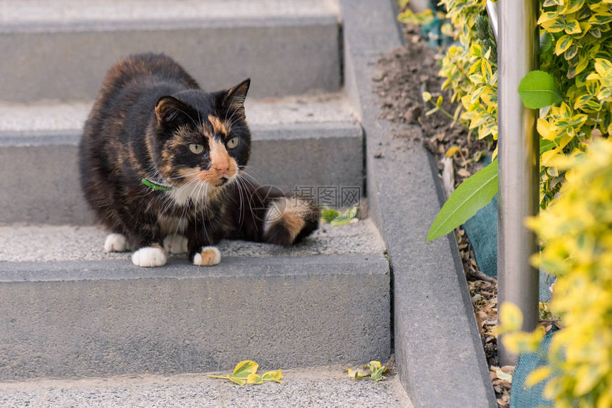
[{"label": "speckled light-grey tread surface under the cat's white paws", "polygon": [[[102,252],[107,232],[76,225],[0,225],[2,262],[102,261],[130,259],[130,252]],[[381,254],[384,245],[371,220],[332,226],[322,224],[291,248],[246,241],[223,240],[221,257],[307,257],[334,254]],[[182,259],[184,255],[172,255]],[[171,261],[173,262],[173,261]]]}]

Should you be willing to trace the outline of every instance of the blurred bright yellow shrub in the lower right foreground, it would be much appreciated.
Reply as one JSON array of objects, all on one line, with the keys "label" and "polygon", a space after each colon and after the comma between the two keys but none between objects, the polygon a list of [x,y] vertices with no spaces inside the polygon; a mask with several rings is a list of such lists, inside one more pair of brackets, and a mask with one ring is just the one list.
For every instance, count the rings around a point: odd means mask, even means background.
[{"label": "blurred bright yellow shrub in the lower right foreground", "polygon": [[[556,407],[612,407],[612,139],[589,143],[586,154],[556,159],[568,168],[559,197],[527,224],[544,242],[533,263],[556,274],[550,310],[561,318],[548,363],[526,385],[546,381]],[[513,311],[514,309],[514,311]],[[518,328],[516,306],[502,305],[502,331]],[[531,352],[542,338],[509,333],[504,343]]]}]

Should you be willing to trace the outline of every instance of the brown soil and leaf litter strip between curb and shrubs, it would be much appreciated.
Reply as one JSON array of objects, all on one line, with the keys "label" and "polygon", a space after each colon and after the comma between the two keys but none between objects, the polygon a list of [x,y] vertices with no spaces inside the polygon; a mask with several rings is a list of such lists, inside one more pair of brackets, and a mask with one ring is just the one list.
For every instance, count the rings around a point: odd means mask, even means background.
[{"label": "brown soil and leaf litter strip between curb and shrubs", "polygon": [[[448,149],[453,146],[459,148],[452,156],[456,187],[482,168],[478,159],[483,153],[490,154],[493,147],[470,135],[468,129],[453,122],[452,117],[443,112],[426,114],[435,106],[433,103],[440,95],[444,100],[443,109],[451,116],[457,105],[450,103],[449,92],[440,90],[443,80],[438,77],[438,71],[443,50],[430,48],[419,32],[420,28],[406,26],[406,45],[379,60],[378,73],[372,78],[374,90],[381,97],[381,117],[421,127],[421,142],[438,159],[440,171]],[[423,102],[423,92],[431,93],[432,102]],[[397,134],[392,137],[403,136]],[[512,374],[514,367],[499,367],[497,362],[497,335],[494,330],[497,321],[497,281],[478,269],[465,232],[460,228],[455,232],[497,403],[499,407],[509,407],[510,382],[507,381],[507,375]]]}]

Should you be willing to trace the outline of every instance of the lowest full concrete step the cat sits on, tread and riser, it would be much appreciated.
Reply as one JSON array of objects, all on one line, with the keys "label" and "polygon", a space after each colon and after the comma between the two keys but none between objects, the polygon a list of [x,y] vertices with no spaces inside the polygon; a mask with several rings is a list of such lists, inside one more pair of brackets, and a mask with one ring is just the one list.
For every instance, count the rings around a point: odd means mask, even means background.
[{"label": "lowest full concrete step the cat sits on, tread and riser", "polygon": [[221,264],[138,268],[95,227],[0,227],[0,381],[309,367],[391,353],[389,262],[370,220]]}]

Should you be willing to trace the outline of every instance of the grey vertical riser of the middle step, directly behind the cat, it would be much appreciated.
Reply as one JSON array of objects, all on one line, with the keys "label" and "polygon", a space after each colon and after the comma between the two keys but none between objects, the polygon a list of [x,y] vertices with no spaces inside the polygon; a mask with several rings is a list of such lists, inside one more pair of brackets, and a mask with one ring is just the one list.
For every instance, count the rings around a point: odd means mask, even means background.
[{"label": "grey vertical riser of the middle step, directly behind the cat", "polygon": [[[363,185],[357,124],[253,129],[253,139],[248,173],[260,183],[286,192]],[[57,134],[48,146],[15,146],[17,140],[0,138],[0,222],[91,224],[80,190],[78,134]]]}]

